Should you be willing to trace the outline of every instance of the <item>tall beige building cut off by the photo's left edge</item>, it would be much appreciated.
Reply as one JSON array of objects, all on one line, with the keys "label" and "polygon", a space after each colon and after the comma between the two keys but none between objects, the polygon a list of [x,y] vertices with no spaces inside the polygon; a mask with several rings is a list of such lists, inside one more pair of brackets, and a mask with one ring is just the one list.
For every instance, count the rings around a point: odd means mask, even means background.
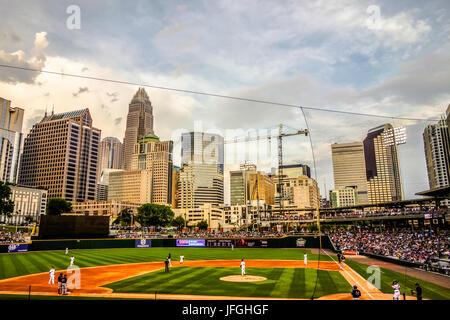
[{"label": "tall beige building cut off by the photo's left edge", "polygon": [[0,97],[0,181],[16,182],[24,110]]}]

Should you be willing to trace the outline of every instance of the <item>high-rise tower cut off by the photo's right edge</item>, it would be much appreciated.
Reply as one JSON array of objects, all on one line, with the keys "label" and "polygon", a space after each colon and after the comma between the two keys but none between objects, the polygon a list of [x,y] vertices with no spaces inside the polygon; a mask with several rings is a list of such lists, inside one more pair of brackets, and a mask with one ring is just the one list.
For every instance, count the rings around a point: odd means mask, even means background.
[{"label": "high-rise tower cut off by the photo's right edge", "polygon": [[450,184],[450,141],[449,128],[444,118],[425,128],[423,142],[430,189],[448,186]]}]

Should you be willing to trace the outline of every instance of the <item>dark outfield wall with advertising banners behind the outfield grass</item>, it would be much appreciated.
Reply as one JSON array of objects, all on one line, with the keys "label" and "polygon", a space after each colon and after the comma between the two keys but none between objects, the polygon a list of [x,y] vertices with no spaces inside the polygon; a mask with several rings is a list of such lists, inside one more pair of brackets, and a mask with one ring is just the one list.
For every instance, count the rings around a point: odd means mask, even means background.
[{"label": "dark outfield wall with advertising banners behind the outfield grass", "polygon": [[[176,247],[179,238],[151,239],[152,247]],[[188,239],[188,238],[183,238]],[[197,238],[192,238],[197,239]],[[318,236],[285,236],[281,238],[206,238],[231,241],[236,248],[319,248]],[[198,240],[198,239],[197,239]],[[244,240],[242,242],[242,240]],[[8,244],[0,245],[0,253],[8,252]],[[69,249],[110,249],[110,248],[135,248],[136,239],[55,239],[32,240],[28,243],[28,251],[64,250]],[[215,247],[212,245],[205,248]],[[221,247],[221,246],[218,246]],[[332,249],[332,243],[328,236],[322,236],[322,248]]]}]

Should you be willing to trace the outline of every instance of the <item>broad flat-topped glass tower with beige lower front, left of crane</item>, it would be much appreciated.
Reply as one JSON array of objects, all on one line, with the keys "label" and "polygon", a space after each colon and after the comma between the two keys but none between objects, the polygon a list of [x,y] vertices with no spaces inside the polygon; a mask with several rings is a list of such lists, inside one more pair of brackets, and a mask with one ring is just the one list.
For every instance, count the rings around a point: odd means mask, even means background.
[{"label": "broad flat-topped glass tower with beige lower front, left of crane", "polygon": [[178,207],[223,204],[223,137],[203,132],[181,137]]}]

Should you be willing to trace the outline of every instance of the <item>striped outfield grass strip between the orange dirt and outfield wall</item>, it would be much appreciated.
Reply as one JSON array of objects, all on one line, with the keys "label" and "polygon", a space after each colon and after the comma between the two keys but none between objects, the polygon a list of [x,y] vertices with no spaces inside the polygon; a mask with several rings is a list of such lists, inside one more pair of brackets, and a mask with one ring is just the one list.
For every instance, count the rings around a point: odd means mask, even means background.
[{"label": "striped outfield grass strip between the orange dirt and outfield wall", "polygon": [[[318,255],[311,254],[310,250],[269,248],[236,248],[233,251],[228,248],[78,249],[70,250],[69,255],[65,255],[64,250],[5,253],[0,254],[0,279],[47,272],[51,266],[57,270],[65,269],[69,265],[71,255],[75,257],[75,265],[84,268],[164,261],[169,252],[172,254],[172,260],[176,261],[180,255],[184,255],[185,260],[303,260],[305,251],[310,261],[318,259]],[[331,260],[326,255],[321,255],[320,259]]]}]

